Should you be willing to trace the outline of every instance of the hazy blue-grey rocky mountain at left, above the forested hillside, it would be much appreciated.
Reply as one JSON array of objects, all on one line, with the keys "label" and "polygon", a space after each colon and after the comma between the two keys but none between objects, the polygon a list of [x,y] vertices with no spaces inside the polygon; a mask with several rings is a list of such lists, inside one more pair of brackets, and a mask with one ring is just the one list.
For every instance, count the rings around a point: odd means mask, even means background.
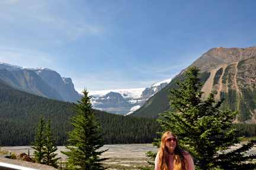
[{"label": "hazy blue-grey rocky mountain at left, above the forested hillside", "polygon": [[62,101],[80,100],[70,78],[47,68],[24,68],[0,63],[0,78],[14,88]]}]

